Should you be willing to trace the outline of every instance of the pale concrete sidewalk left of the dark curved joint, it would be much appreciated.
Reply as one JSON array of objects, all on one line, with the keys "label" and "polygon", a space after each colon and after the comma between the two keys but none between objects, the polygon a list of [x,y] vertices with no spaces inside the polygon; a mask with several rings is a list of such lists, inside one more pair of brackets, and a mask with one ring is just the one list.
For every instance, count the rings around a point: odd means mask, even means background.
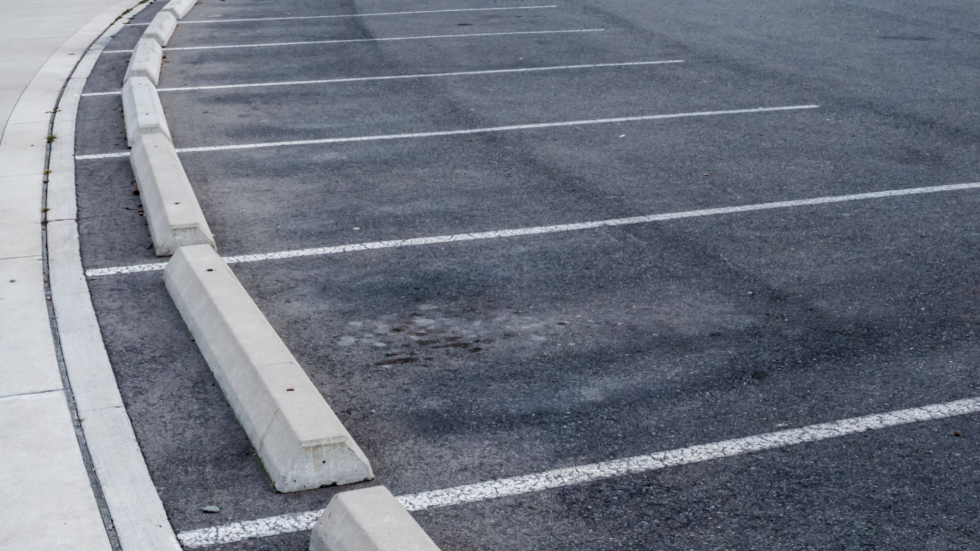
[{"label": "pale concrete sidewalk left of the dark curved joint", "polygon": [[[0,0],[0,549],[112,549],[73,421],[46,296],[52,109],[85,50],[137,0]],[[73,117],[74,114],[67,114]],[[69,328],[68,330],[71,330]]]}]

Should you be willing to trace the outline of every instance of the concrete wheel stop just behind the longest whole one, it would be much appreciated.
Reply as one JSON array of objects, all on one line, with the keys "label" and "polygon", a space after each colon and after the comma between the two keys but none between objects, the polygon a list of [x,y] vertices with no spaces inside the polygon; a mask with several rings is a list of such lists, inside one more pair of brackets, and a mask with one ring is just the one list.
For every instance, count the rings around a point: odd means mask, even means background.
[{"label": "concrete wheel stop just behind the longest whole one", "polygon": [[160,133],[138,135],[129,164],[157,256],[170,256],[183,245],[217,248],[171,140]]}]

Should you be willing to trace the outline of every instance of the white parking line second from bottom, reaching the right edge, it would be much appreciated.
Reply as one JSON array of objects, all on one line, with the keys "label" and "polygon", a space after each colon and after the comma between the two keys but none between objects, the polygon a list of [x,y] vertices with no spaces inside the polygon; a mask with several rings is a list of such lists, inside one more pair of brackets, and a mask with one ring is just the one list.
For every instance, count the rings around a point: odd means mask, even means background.
[{"label": "white parking line second from bottom, reaching the right edge", "polygon": [[[333,254],[351,253],[357,251],[372,251],[376,249],[394,249],[399,247],[412,247],[417,245],[455,243],[458,241],[475,241],[480,239],[496,239],[500,237],[519,237],[523,235],[539,235],[542,233],[561,233],[564,231],[595,229],[598,227],[613,227],[616,225],[648,224],[653,222],[679,220],[684,218],[727,215],[727,214],[735,214],[735,213],[750,213],[754,211],[764,211],[770,209],[785,209],[790,207],[826,205],[830,203],[863,201],[867,199],[886,199],[889,197],[901,197],[904,195],[921,195],[924,193],[938,193],[942,191],[956,191],[962,189],[977,189],[977,188],[980,188],[980,181],[974,181],[970,183],[953,183],[948,185],[931,185],[928,187],[909,187],[906,189],[889,189],[885,191],[854,193],[851,195],[830,195],[826,197],[814,197],[811,199],[775,201],[771,203],[757,203],[753,205],[740,205],[737,207],[720,207],[715,209],[683,211],[683,212],[666,213],[660,215],[618,218],[612,220],[602,220],[597,222],[580,222],[575,224],[562,224],[562,225],[538,225],[534,227],[500,229],[496,231],[481,231],[477,233],[455,233],[452,235],[435,235],[432,237],[414,237],[411,239],[372,241],[368,243],[354,243],[351,245],[336,245],[332,247],[294,249],[290,251],[279,251],[274,253],[259,253],[259,254],[251,254],[251,255],[228,256],[228,257],[224,257],[224,262],[226,262],[227,264],[237,264],[243,262],[260,262],[264,260],[282,260],[287,258],[299,258],[299,257],[307,257],[307,256],[333,255]],[[135,274],[140,272],[156,272],[159,270],[163,270],[165,266],[166,263],[155,262],[152,264],[135,264],[131,266],[117,266],[113,268],[95,268],[95,269],[85,271],[85,275],[89,277],[98,277],[103,275],[121,275],[121,274]]]}]

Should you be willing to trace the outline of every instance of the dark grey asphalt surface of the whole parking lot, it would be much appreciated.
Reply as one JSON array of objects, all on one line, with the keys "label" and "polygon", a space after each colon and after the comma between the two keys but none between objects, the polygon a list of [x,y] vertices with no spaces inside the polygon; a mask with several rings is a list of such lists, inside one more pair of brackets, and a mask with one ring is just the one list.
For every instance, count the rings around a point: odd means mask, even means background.
[{"label": "dark grey asphalt surface of the whole parking lot", "polygon": [[[151,476],[198,534],[338,488],[273,491],[156,270],[116,92],[160,4],[85,89],[79,226]],[[160,95],[221,254],[406,495],[980,394],[980,188],[934,188],[980,181],[978,16],[202,0]],[[968,549],[978,434],[951,417],[415,516],[444,550]],[[306,548],[284,532],[193,542]]]}]

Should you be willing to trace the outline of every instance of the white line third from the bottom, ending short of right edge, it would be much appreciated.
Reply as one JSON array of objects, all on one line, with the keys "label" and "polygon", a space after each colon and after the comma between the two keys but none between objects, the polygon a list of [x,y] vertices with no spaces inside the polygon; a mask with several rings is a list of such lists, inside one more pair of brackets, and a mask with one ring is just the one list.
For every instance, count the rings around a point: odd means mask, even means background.
[{"label": "white line third from the bottom, ending short of right edge", "polygon": [[[200,151],[230,151],[234,149],[256,149],[260,147],[285,147],[293,145],[316,145],[322,143],[344,143],[352,141],[374,141],[382,139],[403,139],[433,136],[452,136],[459,134],[477,134],[484,132],[503,132],[506,130],[529,130],[534,128],[554,128],[558,126],[604,125],[608,123],[633,123],[637,121],[657,121],[660,119],[681,119],[684,117],[710,117],[714,115],[740,115],[745,113],[768,113],[772,111],[796,111],[800,109],[816,109],[818,105],[789,105],[785,107],[754,107],[752,109],[729,109],[725,111],[695,111],[693,113],[669,113],[665,115],[640,115],[637,117],[615,117],[613,119],[591,119],[586,121],[562,121],[560,123],[535,123],[532,125],[488,126],[485,128],[465,128],[462,130],[436,130],[432,132],[410,132],[405,134],[380,134],[370,136],[354,136],[343,138],[299,139],[291,141],[270,141],[264,143],[241,143],[234,145],[209,145],[204,147],[181,147],[177,153],[194,153]],[[76,155],[75,159],[105,159],[108,157],[128,157],[128,152],[97,153],[95,155]]]}]

